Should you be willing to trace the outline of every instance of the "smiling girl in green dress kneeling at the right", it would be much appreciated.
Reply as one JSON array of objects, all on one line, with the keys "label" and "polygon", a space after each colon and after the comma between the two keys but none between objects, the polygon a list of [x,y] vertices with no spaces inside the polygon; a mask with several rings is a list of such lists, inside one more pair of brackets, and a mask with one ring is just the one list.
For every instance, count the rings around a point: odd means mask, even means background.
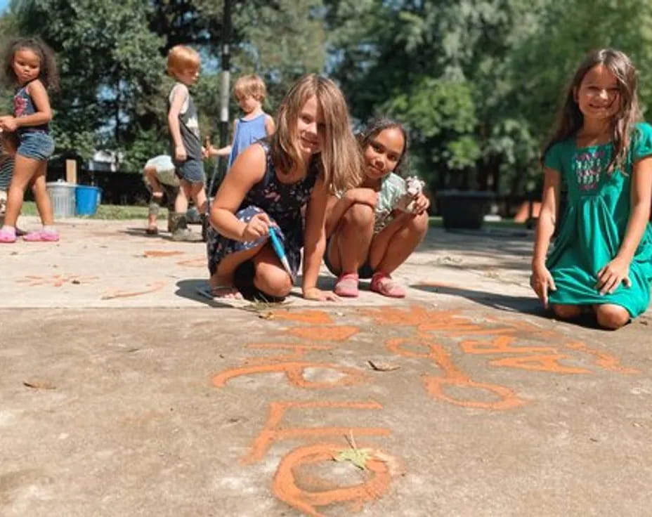
[{"label": "smiling girl in green dress kneeling at the right", "polygon": [[[542,207],[530,283],[558,318],[596,314],[618,329],[650,301],[652,127],[637,123],[637,72],[622,52],[589,53],[545,148]],[[559,210],[568,207],[546,258]]]}]

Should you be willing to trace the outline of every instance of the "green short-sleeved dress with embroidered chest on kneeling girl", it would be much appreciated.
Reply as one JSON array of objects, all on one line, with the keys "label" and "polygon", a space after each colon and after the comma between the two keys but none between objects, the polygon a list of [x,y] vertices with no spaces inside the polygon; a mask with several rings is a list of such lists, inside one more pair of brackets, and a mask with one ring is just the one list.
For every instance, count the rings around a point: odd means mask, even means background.
[{"label": "green short-sleeved dress with embroidered chest on kneeling girl", "polygon": [[637,124],[625,163],[625,173],[606,168],[613,145],[578,148],[575,138],[556,143],[545,156],[545,166],[561,174],[568,188],[568,206],[559,235],[546,265],[557,290],[550,303],[585,305],[615,303],[632,318],[644,313],[652,282],[652,228],[648,223],[630,264],[632,287],[620,284],[613,294],[601,296],[596,273],[615,258],[630,217],[634,164],[652,155],[652,126]]}]

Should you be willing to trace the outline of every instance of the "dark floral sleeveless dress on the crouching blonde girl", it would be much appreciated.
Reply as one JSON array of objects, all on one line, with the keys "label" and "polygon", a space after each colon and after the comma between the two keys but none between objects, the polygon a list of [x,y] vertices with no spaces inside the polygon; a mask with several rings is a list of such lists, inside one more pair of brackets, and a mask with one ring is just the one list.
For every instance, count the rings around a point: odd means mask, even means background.
[{"label": "dark floral sleeveless dress on the crouching blonde girl", "polygon": [[[301,208],[310,199],[318,176],[318,168],[313,162],[308,169],[308,174],[301,181],[281,183],[276,175],[269,144],[264,140],[260,140],[258,144],[262,146],[266,154],[265,174],[261,181],[256,183],[252,190],[249,190],[244,196],[235,216],[240,221],[247,223],[256,214],[267,214],[272,223],[277,225],[280,230],[278,236],[285,247],[292,273],[296,275],[301,264],[301,248],[304,247],[304,219],[301,215]],[[209,272],[213,275],[219,263],[228,254],[252,249],[267,239],[268,236],[264,236],[256,240],[242,242],[229,239],[220,235],[214,228],[209,228],[207,233]]]}]

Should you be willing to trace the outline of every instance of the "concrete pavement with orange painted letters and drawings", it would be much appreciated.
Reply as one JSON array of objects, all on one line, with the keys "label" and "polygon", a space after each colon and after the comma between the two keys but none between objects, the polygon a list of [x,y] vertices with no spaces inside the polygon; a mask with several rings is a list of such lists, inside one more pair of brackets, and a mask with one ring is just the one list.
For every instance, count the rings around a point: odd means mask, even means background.
[{"label": "concrete pavement with orange painted letters and drawings", "polygon": [[2,516],[649,511],[651,313],[550,319],[527,232],[431,230],[405,300],[230,307],[202,244],[60,229],[0,248]]}]

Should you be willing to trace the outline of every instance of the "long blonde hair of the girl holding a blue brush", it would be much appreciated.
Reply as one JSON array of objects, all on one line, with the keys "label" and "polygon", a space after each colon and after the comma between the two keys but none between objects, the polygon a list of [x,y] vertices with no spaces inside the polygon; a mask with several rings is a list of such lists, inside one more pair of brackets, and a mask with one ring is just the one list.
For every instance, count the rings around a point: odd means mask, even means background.
[{"label": "long blonde hair of the girl holding a blue brush", "polygon": [[296,126],[301,109],[311,97],[317,99],[324,117],[322,149],[311,157],[311,164],[316,161],[331,192],[358,186],[363,178],[363,157],[351,132],[346,100],[333,81],[316,74],[299,79],[278,109],[276,132],[271,141],[275,165],[282,174],[307,171],[310,164],[306,164],[299,150]]}]

